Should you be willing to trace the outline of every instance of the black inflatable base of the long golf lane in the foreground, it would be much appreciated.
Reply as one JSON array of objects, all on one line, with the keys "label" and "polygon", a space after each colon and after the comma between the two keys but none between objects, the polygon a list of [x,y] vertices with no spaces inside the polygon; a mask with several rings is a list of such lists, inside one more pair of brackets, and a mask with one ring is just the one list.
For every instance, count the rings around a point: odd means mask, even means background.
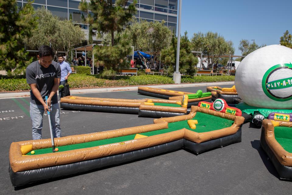
[{"label": "black inflatable base of the long golf lane in the foreground", "polygon": [[180,139],[166,144],[160,144],[153,147],[143,148],[135,151],[129,151],[122,154],[115,154],[107,157],[96,158],[92,160],[79,161],[66,165],[57,165],[33,170],[13,172],[9,167],[9,175],[12,186],[22,186],[29,183],[70,176],[78,173],[88,172],[104,168],[107,166],[118,165],[125,162],[134,161],[141,158],[163,154],[169,151],[178,149],[187,149],[196,154],[207,151],[216,147],[222,147],[235,142],[241,142],[241,127],[237,133],[221,137],[214,140],[209,140],[202,143],[195,143],[189,140]]}]

